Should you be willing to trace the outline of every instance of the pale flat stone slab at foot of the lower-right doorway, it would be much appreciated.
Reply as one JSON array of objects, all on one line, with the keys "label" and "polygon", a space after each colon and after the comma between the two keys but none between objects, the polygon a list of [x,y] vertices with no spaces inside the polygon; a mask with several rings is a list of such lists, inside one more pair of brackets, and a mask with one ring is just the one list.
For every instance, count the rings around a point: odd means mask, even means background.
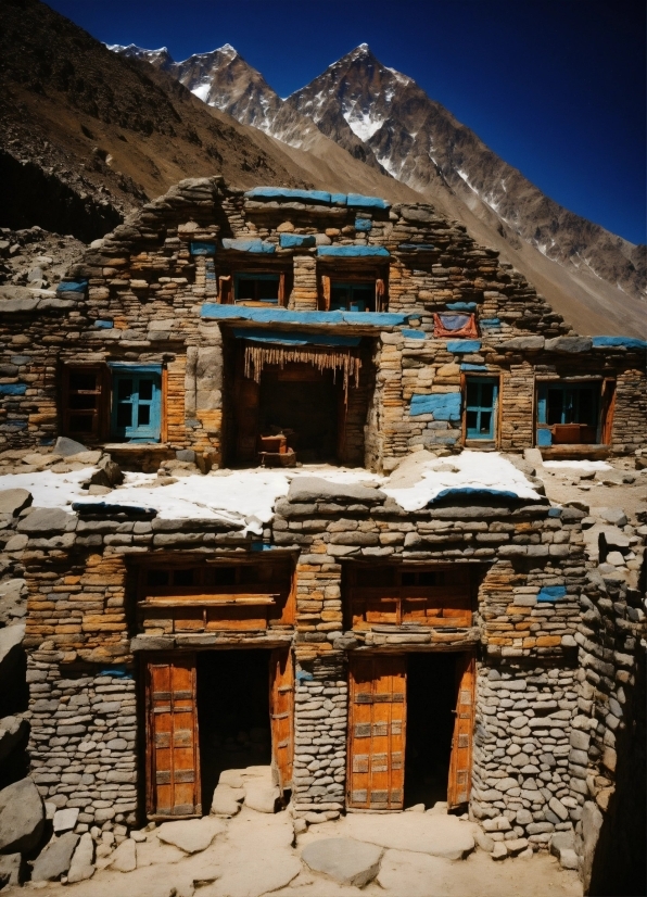
[{"label": "pale flat stone slab at foot of the lower-right doorway", "polygon": [[474,849],[470,823],[461,822],[455,816],[353,813],[344,820],[344,834],[380,847],[448,860],[464,859]]}]

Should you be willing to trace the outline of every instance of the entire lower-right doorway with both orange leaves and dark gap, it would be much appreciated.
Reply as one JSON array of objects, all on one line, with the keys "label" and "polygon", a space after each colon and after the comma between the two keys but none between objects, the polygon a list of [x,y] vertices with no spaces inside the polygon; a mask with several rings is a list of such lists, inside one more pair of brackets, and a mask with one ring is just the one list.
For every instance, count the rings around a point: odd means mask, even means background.
[{"label": "entire lower-right doorway with both orange leaves and dark gap", "polygon": [[352,656],[347,806],[467,803],[473,715],[471,654]]}]

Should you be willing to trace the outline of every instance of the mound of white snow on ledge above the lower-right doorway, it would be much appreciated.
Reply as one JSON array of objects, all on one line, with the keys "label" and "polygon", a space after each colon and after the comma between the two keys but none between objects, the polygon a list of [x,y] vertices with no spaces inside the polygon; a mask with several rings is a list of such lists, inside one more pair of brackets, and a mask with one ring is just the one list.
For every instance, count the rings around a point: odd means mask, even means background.
[{"label": "mound of white snow on ledge above the lower-right doorway", "polygon": [[[498,452],[466,450],[460,455],[423,460],[415,472],[416,455],[409,458],[413,476],[408,482],[405,480],[403,488],[383,487],[386,495],[405,510],[420,510],[446,489],[489,489],[513,492],[519,498],[540,500],[525,476]],[[399,478],[394,476],[392,480],[396,483]]]}]

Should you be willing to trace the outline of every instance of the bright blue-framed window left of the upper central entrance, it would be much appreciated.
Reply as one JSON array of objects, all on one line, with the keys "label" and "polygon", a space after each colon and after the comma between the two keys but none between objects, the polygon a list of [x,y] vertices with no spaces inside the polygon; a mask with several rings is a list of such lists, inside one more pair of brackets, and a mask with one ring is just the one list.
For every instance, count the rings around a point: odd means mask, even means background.
[{"label": "bright blue-framed window left of the upper central entrance", "polygon": [[111,434],[126,442],[158,442],[162,427],[162,368],[111,365]]}]

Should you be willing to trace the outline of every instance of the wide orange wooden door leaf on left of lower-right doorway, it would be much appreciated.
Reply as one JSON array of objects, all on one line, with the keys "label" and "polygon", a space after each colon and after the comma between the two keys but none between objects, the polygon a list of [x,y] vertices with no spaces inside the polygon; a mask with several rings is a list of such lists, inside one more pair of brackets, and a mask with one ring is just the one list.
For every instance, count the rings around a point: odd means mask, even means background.
[{"label": "wide orange wooden door leaf on left of lower-right doorway", "polygon": [[351,657],[348,806],[402,810],[406,657]]}]

